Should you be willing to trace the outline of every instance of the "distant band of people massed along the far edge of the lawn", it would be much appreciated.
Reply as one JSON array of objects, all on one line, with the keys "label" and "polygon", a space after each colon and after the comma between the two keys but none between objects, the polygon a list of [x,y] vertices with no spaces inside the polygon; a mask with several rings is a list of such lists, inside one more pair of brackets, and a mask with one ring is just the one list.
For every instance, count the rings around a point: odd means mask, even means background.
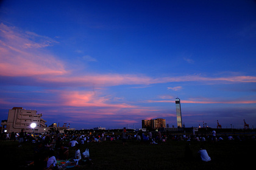
[{"label": "distant band of people massed along the far edge of the lawn", "polygon": [[[51,137],[50,137],[51,135]],[[20,143],[24,141],[51,141],[51,140],[69,140],[71,141],[71,145],[74,146],[76,143],[84,144],[91,142],[102,142],[102,141],[149,141],[151,144],[160,144],[165,142],[166,140],[172,141],[247,141],[247,140],[255,140],[255,135],[227,135],[227,134],[218,134],[216,135],[215,131],[212,131],[208,134],[166,134],[165,132],[160,131],[149,131],[149,132],[127,132],[126,128],[123,129],[122,133],[114,133],[110,134],[110,132],[98,132],[98,133],[90,133],[90,134],[60,134],[59,132],[54,132],[52,134],[29,134],[26,132],[11,132],[11,133],[2,133],[0,136],[0,140],[18,140]],[[52,147],[53,144],[48,143],[48,147]]]}]

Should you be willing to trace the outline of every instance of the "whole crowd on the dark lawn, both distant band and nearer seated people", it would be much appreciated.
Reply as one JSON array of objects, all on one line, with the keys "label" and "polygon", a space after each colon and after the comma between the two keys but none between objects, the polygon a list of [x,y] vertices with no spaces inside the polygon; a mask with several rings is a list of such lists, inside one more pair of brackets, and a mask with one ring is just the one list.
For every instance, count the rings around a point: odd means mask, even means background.
[{"label": "whole crowd on the dark lawn, both distant band and nearer seated people", "polygon": [[[216,135],[215,131],[211,134],[166,134],[160,131],[152,132],[127,132],[123,129],[122,133],[90,133],[90,134],[60,134],[52,132],[50,134],[29,134],[24,131],[20,133],[1,134],[1,140],[18,140],[19,147],[22,147],[24,142],[35,143],[34,149],[34,166],[37,169],[58,169],[57,160],[72,160],[79,164],[83,158],[83,153],[80,152],[79,146],[85,143],[101,143],[104,141],[122,141],[123,145],[127,145],[129,141],[137,141],[147,144],[162,144],[166,140],[170,141],[201,141],[201,142],[218,142],[218,141],[255,141],[254,135]],[[70,149],[75,151],[74,155],[69,155]],[[189,150],[189,149],[187,149]],[[210,161],[210,157],[206,149],[202,148],[198,152],[203,161]],[[190,155],[187,152],[186,155]],[[87,157],[88,158],[88,157]]]}]

